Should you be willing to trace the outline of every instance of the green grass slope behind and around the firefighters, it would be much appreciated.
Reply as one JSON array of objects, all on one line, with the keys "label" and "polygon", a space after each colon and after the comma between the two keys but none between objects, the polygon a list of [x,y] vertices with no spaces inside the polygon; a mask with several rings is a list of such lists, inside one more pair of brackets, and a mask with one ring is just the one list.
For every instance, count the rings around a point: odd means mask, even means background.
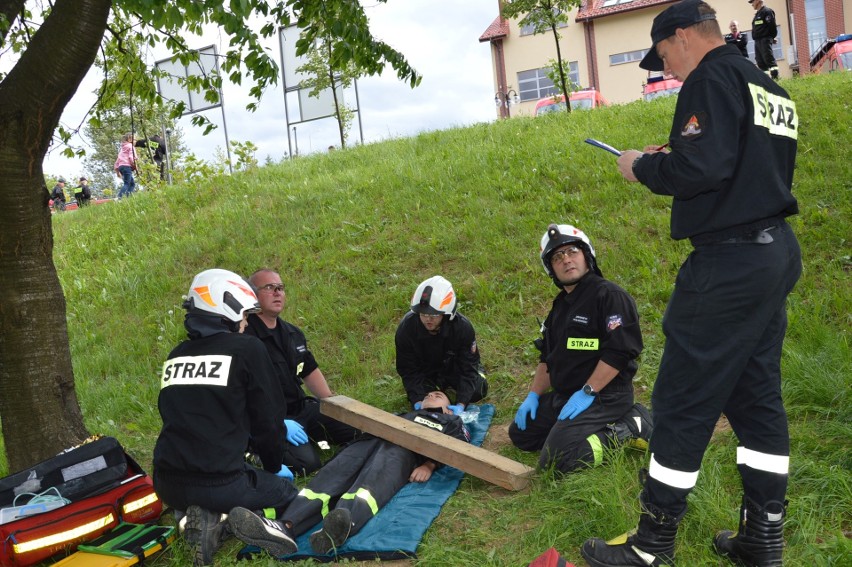
[{"label": "green grass slope behind and around the firefighters", "polygon": [[[850,77],[783,82],[801,116],[794,191],[802,212],[791,223],[805,263],[782,361],[792,436],[789,565],[852,564]],[[582,141],[662,143],[673,103],[422,134],[56,217],[87,426],[116,436],[150,470],[158,371],[184,337],[181,296],[211,267],[278,268],[285,315],[305,331],[333,388],[402,410],[394,331],[416,285],[441,274],[477,329],[489,371],[497,412],[486,446],[534,466],[537,456],[511,447],[503,430],[526,393],[537,320],[556,293],[538,258],[548,223],[581,227],[604,274],[636,298],[646,343],[637,396],[649,399],[661,318],[689,246],[668,237],[666,199],[625,183],[611,156]],[[736,523],[735,446],[722,429],[708,448],[678,538],[681,565],[722,564],[710,539]],[[515,566],[555,546],[582,564],[587,537],[635,527],[637,473],[646,464],[645,455],[620,451],[567,478],[539,473],[520,493],[467,476],[413,563]],[[232,564],[229,557],[220,553],[220,564]],[[156,564],[187,562],[178,544]]]}]

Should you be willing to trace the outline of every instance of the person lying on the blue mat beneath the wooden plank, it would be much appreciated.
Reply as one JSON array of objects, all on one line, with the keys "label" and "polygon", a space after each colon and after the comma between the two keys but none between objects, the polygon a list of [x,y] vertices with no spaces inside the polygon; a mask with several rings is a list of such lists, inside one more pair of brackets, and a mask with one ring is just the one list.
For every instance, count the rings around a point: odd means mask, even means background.
[{"label": "person lying on the blue mat beneath the wooden plank", "polygon": [[[462,418],[449,409],[443,392],[429,392],[421,409],[401,417],[470,442]],[[417,453],[374,437],[347,445],[303,488],[281,516],[285,529],[300,535],[320,520],[311,534],[311,547],[326,554],[358,533],[409,482],[426,482],[441,466]],[[412,513],[416,513],[412,510]]]}]

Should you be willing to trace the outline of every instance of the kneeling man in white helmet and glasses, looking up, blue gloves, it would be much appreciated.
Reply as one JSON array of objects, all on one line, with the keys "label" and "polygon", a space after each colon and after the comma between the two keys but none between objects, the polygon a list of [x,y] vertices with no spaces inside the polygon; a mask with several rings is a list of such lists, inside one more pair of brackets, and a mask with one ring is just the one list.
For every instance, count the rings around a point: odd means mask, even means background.
[{"label": "kneeling man in white helmet and glasses, looking up, blue gloves", "polygon": [[561,473],[601,464],[604,449],[618,443],[647,447],[651,416],[633,403],[642,352],[636,303],[603,278],[592,243],[571,225],[548,227],[541,262],[560,292],[536,341],[539,363],[509,438],[541,451],[539,466]]}]

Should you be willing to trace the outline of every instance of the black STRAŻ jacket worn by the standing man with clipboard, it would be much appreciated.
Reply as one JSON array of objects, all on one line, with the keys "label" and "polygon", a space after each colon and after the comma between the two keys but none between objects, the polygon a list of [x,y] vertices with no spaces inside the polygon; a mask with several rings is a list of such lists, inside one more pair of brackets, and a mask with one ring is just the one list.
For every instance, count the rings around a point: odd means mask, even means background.
[{"label": "black STRA\u017b jacket worn by the standing man with clipboard", "polygon": [[671,153],[640,158],[637,179],[674,197],[674,239],[724,233],[798,212],[790,187],[799,115],[787,92],[730,45],[689,74],[675,107]]}]

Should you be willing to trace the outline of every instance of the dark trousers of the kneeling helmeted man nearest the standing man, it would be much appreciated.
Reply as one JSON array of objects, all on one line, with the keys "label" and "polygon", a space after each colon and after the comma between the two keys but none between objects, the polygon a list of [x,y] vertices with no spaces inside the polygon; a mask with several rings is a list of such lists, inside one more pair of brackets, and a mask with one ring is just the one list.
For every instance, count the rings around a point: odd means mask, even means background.
[{"label": "dark trousers of the kneeling helmeted man nearest the standing man", "polygon": [[610,383],[589,408],[574,419],[559,419],[569,396],[548,392],[539,398],[536,418],[527,417],[521,431],[513,421],[509,438],[523,451],[541,451],[539,467],[551,464],[567,473],[601,463],[603,451],[613,444],[607,425],[618,421],[633,407],[633,386]]}]

